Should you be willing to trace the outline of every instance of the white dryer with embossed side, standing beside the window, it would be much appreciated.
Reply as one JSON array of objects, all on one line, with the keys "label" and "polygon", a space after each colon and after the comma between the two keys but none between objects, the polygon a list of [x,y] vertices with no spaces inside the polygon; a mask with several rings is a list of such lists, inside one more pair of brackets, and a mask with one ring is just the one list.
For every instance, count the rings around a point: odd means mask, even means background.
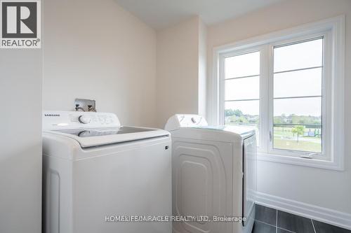
[{"label": "white dryer with embossed side, standing beside the window", "polygon": [[173,115],[165,129],[171,132],[173,144],[173,215],[209,217],[174,222],[173,232],[251,233],[256,195],[255,131],[209,127],[199,115]]}]

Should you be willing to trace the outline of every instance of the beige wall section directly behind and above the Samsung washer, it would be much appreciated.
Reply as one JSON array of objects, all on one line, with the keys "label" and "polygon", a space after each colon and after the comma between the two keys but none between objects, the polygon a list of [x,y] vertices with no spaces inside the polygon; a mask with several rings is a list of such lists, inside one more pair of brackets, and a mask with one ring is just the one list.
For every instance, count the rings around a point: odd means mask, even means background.
[{"label": "beige wall section directly behind and above the Samsung washer", "polygon": [[124,125],[154,126],[156,33],[113,0],[46,0],[44,110],[76,97]]}]

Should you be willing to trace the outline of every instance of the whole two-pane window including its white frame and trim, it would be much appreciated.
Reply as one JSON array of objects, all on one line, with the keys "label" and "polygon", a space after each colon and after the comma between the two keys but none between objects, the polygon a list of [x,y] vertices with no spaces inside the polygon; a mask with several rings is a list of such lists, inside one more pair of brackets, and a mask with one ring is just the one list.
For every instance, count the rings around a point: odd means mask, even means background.
[{"label": "whole two-pane window including its white frame and trim", "polygon": [[256,129],[263,160],[342,169],[343,23],[216,48],[213,122]]}]

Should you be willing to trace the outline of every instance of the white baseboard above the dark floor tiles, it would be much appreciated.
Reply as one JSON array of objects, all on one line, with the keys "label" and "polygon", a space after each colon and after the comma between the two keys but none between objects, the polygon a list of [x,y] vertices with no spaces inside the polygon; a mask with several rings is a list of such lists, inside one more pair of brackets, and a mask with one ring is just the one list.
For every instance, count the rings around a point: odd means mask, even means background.
[{"label": "white baseboard above the dark floor tiles", "polygon": [[256,203],[351,230],[351,214],[257,192]]}]

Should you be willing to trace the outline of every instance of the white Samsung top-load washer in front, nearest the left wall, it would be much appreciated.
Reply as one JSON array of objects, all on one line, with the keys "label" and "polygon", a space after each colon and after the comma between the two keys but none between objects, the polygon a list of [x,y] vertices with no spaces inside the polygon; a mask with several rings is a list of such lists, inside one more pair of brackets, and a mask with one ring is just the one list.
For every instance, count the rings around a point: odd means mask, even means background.
[{"label": "white Samsung top-load washer in front, nearest the left wall", "polygon": [[168,132],[113,113],[46,111],[43,124],[43,232],[171,233],[149,218],[171,215]]}]

